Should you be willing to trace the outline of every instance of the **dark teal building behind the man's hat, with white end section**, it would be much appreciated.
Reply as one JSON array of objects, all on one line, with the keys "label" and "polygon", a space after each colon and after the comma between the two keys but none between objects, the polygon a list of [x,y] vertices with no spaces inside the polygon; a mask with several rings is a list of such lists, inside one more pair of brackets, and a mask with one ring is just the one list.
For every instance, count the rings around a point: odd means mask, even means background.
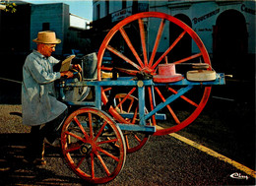
[{"label": "dark teal building behind the man's hat, with white end section", "polygon": [[32,39],[36,38],[38,31],[56,32],[62,41],[54,52],[58,56],[74,47],[89,47],[89,38],[85,38],[83,32],[88,30],[90,21],[70,14],[69,5],[16,3],[16,13],[0,12],[1,54],[28,54],[36,48]]}]

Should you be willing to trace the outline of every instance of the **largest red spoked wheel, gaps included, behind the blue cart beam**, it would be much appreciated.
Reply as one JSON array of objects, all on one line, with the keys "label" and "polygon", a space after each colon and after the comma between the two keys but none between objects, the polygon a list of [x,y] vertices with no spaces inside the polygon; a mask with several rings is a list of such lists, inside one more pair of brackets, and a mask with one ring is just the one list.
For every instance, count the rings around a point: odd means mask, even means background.
[{"label": "largest red spoked wheel, gaps included, behind the blue cart beam", "polygon": [[[171,30],[167,30],[167,27]],[[169,42],[166,32],[169,32]],[[190,53],[182,52],[182,50],[179,50],[178,53],[173,52],[182,46],[184,40],[189,39],[190,46],[193,45],[193,51]],[[102,63],[105,52],[110,52],[113,56],[114,68],[105,67]],[[186,56],[184,56],[185,54]],[[191,63],[209,64],[209,70],[211,70],[208,52],[197,33],[190,27],[163,13],[139,13],[118,23],[105,36],[97,54],[97,79],[101,81],[102,72],[107,70],[118,71],[119,78],[130,76],[130,81],[138,75],[147,79],[158,73],[158,67],[164,63],[164,59],[167,59],[168,63],[175,64],[177,73],[185,74],[186,69],[183,67],[189,67]],[[181,86],[169,86],[167,84],[148,87],[145,93],[146,104],[153,110],[161,102],[165,102],[166,97],[175,96],[181,88]],[[117,91],[113,91],[114,87],[103,88],[102,101],[105,105],[109,103],[109,95],[105,90],[109,89],[112,89],[113,93],[119,91],[138,96],[136,94],[138,88],[136,87],[118,87]],[[203,110],[210,92],[211,87],[194,86],[189,92],[179,95],[167,104],[160,110],[160,112],[166,113],[167,118],[165,121],[158,122],[162,128],[154,135],[169,134],[189,125]],[[114,109],[111,102],[107,109],[118,122],[129,123]],[[157,125],[156,118],[159,119],[157,115],[153,115],[151,118],[153,125]]]}]

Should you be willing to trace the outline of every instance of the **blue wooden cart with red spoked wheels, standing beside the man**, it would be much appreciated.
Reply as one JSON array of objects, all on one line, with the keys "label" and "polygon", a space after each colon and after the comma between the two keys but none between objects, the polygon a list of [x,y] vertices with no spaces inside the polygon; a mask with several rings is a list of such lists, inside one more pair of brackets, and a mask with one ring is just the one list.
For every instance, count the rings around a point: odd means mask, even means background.
[{"label": "blue wooden cart with red spoked wheels, standing beside the man", "polygon": [[[162,35],[170,24],[180,32],[168,45]],[[184,35],[191,38],[196,52],[174,60],[172,49]],[[106,51],[114,56],[112,67],[102,62]],[[193,70],[176,73],[175,67],[181,64],[193,64]],[[105,72],[118,76],[105,78]],[[62,153],[87,182],[111,181],[122,170],[126,153],[140,150],[150,135],[174,133],[191,124],[205,107],[212,87],[219,85],[224,85],[224,74],[212,69],[195,31],[163,13],[130,16],[103,39],[96,79],[68,79],[59,85],[63,101],[78,107],[63,124]],[[84,87],[94,90],[93,99],[65,99],[65,90]]]}]

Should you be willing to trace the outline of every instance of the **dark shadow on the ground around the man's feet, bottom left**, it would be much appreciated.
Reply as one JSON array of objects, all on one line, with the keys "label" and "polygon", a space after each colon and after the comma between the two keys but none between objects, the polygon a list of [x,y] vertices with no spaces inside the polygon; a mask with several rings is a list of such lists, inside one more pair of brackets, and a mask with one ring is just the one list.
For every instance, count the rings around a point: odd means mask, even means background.
[{"label": "dark shadow on the ground around the man's feet, bottom left", "polygon": [[[34,166],[24,161],[28,134],[0,134],[0,185],[77,185],[81,179],[70,173],[63,173],[58,163],[45,166]],[[51,162],[58,159],[66,164],[59,150],[47,148],[46,159]],[[54,167],[55,165],[55,167]],[[69,171],[69,170],[66,170]],[[59,173],[58,173],[59,172]],[[80,184],[81,185],[81,184]]]}]

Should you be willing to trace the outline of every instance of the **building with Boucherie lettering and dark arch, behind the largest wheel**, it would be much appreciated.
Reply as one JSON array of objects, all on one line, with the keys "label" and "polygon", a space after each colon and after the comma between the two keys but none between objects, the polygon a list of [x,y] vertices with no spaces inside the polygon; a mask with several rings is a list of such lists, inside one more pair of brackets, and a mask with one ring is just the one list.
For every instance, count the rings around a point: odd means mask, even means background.
[{"label": "building with Boucherie lettering and dark arch, behind the largest wheel", "polygon": [[[225,0],[156,0],[156,1],[105,1],[94,0],[94,22],[104,20],[109,31],[116,23],[139,12],[161,12],[171,15],[194,31],[204,42],[213,62],[213,67],[226,74],[235,74],[244,78],[246,69],[255,69],[255,1],[225,1]],[[96,25],[94,25],[96,26]],[[166,25],[162,32],[164,42],[161,42],[158,52],[164,52],[172,42],[173,29]],[[156,31],[158,31],[156,27]],[[97,27],[100,30],[100,27]],[[152,31],[155,32],[156,31]],[[154,37],[150,35],[149,37]],[[154,44],[154,39],[153,43]],[[182,48],[175,51],[197,53],[193,41],[186,42]],[[179,51],[178,51],[179,50]],[[186,53],[185,52],[185,53]],[[246,67],[241,67],[246,63]],[[249,67],[249,68],[248,68]],[[241,70],[242,69],[242,70]],[[252,72],[250,74],[253,74]]]}]

